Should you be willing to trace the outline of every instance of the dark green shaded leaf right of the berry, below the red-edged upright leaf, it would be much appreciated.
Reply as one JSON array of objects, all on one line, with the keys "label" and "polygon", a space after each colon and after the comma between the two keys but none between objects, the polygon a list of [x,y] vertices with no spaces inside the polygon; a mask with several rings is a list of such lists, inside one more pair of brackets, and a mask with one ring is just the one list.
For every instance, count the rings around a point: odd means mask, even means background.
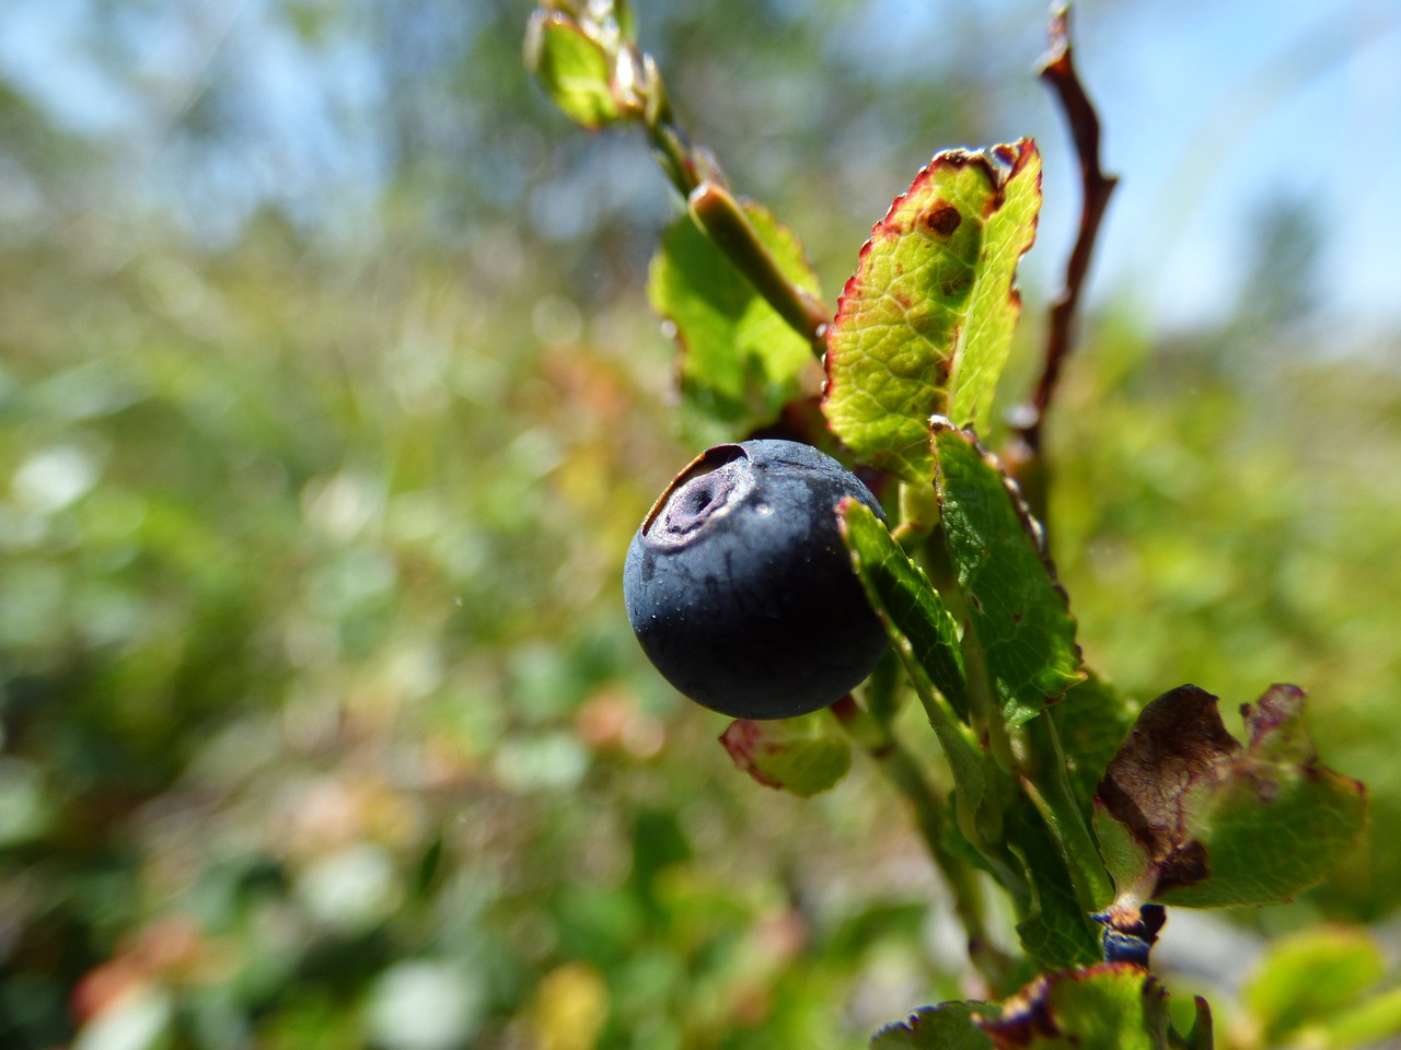
[{"label": "dark green shaded leaf right of the berry, below the red-edged upright leaf", "polygon": [[968,603],[1003,717],[1019,725],[1080,682],[1065,591],[1042,549],[1040,526],[976,438],[934,424],[939,500],[948,557]]}]

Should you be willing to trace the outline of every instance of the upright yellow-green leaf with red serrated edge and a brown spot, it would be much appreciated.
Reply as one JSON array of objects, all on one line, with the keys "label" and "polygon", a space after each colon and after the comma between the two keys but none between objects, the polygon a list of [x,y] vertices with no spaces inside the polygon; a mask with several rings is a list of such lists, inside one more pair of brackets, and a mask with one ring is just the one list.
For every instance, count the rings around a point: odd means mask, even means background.
[{"label": "upright yellow-green leaf with red serrated edge and a brown spot", "polygon": [[876,224],[828,330],[822,405],[862,459],[927,483],[930,416],[986,430],[1040,207],[1023,140],[940,153]]}]

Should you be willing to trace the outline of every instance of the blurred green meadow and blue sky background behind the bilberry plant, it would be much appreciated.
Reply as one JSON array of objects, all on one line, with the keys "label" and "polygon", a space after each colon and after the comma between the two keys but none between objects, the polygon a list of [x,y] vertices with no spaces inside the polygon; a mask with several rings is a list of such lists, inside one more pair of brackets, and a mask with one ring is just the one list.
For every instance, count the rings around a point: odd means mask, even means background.
[{"label": "blurred green meadow and blue sky background behind the bilberry plant", "polygon": [[[1042,4],[636,7],[828,301],[934,150],[1040,140],[1013,405],[1077,206]],[[528,80],[528,13],[0,10],[4,1047],[849,1047],[968,991],[899,801],[759,788],[628,631],[695,451],[678,204]],[[1075,27],[1124,178],[1049,424],[1082,643],[1139,699],[1303,685],[1373,794],[1304,899],[1173,916],[1229,1018],[1262,938],[1401,930],[1401,8]]]}]

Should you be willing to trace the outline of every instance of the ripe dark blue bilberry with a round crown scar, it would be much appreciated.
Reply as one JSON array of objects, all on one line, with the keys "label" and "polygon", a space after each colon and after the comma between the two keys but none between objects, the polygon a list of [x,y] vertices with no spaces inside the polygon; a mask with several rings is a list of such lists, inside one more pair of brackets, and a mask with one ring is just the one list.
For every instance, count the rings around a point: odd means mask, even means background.
[{"label": "ripe dark blue bilberry with a round crown scar", "polygon": [[841,700],[887,637],[852,570],[836,505],[870,490],[796,441],[716,445],[633,536],[623,598],[637,641],[681,693],[736,718]]}]

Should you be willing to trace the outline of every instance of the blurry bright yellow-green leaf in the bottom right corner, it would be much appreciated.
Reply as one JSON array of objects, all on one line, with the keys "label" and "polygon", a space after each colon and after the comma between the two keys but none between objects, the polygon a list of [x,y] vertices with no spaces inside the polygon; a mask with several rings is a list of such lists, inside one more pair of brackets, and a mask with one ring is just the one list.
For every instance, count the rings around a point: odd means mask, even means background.
[{"label": "blurry bright yellow-green leaf in the bottom right corner", "polygon": [[1351,1012],[1386,967],[1381,945],[1366,930],[1306,930],[1269,946],[1241,1000],[1261,1043],[1285,1046],[1303,1042],[1289,1037],[1300,1029]]}]

